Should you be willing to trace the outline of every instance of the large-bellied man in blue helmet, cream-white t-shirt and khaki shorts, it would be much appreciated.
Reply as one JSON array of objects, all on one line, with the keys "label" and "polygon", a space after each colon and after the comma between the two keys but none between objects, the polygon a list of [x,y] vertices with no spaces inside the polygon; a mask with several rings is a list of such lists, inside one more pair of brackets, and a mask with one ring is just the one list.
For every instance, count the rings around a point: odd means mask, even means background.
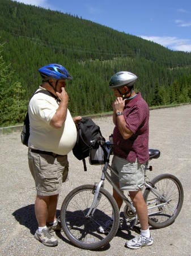
[{"label": "large-bellied man in blue helmet, cream-white t-shirt and khaki shorts", "polygon": [[67,180],[67,154],[75,145],[75,122],[81,117],[72,118],[67,109],[66,80],[73,79],[67,70],[62,65],[49,64],[39,72],[43,84],[28,106],[28,163],[36,185],[35,215],[39,225],[35,238],[46,246],[56,246],[58,240],[52,231],[61,228],[56,218],[58,195],[62,182]]}]

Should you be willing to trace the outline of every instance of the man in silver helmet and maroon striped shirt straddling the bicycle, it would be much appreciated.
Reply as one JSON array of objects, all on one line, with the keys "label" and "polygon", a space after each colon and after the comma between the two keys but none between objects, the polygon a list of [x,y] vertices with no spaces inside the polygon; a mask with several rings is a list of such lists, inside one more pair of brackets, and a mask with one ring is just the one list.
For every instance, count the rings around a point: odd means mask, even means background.
[{"label": "man in silver helmet and maroon striped shirt straddling the bicycle", "polygon": [[[148,120],[149,109],[141,93],[135,93],[134,82],[137,76],[121,71],[112,76],[109,87],[113,89],[116,100],[113,102],[113,160],[112,167],[118,176],[111,174],[114,183],[122,191],[129,191],[130,199],[136,208],[141,224],[141,235],[127,241],[126,246],[138,249],[152,245],[153,240],[148,229],[147,205],[142,195],[145,163],[148,155]],[[113,197],[121,208],[122,198],[113,189]],[[111,226],[112,219],[100,232]],[[101,229],[102,228],[102,229]]]}]

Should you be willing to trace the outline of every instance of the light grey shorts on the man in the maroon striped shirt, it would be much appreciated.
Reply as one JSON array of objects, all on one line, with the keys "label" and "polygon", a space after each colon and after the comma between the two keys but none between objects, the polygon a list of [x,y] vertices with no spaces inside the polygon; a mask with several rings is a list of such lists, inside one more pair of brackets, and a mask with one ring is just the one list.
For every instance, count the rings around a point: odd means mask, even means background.
[{"label": "light grey shorts on the man in the maroon striped shirt", "polygon": [[114,155],[112,167],[118,172],[118,177],[111,172],[112,180],[115,184],[119,183],[121,190],[138,191],[143,188],[145,163],[140,164],[138,159],[135,163],[129,162]]}]

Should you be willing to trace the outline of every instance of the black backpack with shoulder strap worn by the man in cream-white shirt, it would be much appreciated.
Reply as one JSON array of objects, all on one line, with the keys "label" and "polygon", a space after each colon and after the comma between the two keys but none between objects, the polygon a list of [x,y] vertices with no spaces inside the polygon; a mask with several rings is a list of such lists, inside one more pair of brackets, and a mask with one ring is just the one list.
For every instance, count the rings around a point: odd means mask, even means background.
[{"label": "black backpack with shoulder strap worn by the man in cream-white shirt", "polygon": [[[48,90],[38,90],[38,92],[34,93],[33,96],[37,93],[44,93],[44,94],[54,97],[54,98],[56,98],[56,100],[58,100],[58,97],[56,97],[53,93],[49,92]],[[20,138],[21,138],[23,145],[26,145],[27,147],[28,147],[29,135],[30,135],[30,125],[29,125],[29,116],[28,116],[28,111],[27,111],[26,117],[24,118],[23,130],[20,134]]]}]

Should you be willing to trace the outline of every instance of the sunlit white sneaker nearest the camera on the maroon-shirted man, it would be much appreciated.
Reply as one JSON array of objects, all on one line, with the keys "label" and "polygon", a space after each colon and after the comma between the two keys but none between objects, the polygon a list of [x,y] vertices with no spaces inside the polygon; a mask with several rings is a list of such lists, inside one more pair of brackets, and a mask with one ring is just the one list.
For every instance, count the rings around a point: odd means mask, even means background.
[{"label": "sunlit white sneaker nearest the camera on the maroon-shirted man", "polygon": [[125,245],[128,247],[128,248],[131,248],[131,249],[139,249],[141,248],[142,246],[149,246],[149,245],[152,245],[153,243],[153,239],[150,235],[149,238],[145,237],[145,236],[142,236],[141,234],[135,238],[133,238],[132,240],[130,241],[127,241],[125,243]]}]

